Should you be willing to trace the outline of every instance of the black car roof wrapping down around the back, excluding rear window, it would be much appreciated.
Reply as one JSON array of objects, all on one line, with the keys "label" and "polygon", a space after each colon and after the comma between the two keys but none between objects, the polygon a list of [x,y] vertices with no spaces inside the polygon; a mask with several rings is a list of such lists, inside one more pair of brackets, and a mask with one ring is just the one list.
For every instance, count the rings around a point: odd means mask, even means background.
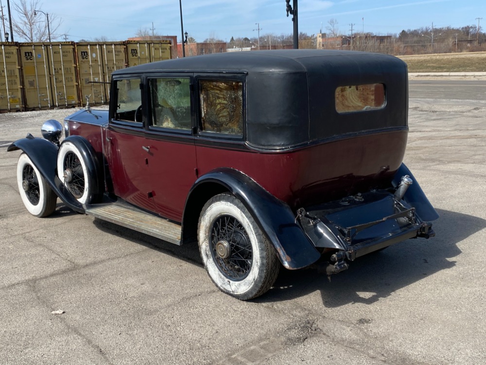
[{"label": "black car roof wrapping down around the back, excluding rear window", "polygon": [[[228,52],[147,63],[113,73],[246,73],[246,142],[290,148],[370,130],[407,129],[407,65],[397,57],[330,50]],[[341,86],[382,84],[382,109],[338,113]]]}]

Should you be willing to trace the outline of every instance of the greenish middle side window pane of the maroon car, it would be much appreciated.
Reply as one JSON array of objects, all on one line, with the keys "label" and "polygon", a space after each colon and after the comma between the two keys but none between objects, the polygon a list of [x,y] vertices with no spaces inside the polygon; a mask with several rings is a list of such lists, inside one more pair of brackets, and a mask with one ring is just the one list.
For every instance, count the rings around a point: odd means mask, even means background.
[{"label": "greenish middle side window pane of the maroon car", "polygon": [[191,129],[191,88],[189,77],[149,79],[152,100],[151,126]]}]

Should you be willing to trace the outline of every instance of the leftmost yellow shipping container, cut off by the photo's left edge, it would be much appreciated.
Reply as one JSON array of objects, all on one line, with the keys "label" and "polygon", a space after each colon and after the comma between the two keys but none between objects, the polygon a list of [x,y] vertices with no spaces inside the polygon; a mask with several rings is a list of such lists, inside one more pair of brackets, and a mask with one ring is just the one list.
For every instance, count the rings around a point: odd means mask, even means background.
[{"label": "leftmost yellow shipping container, cut off by the photo's left edge", "polygon": [[17,43],[1,43],[0,111],[23,110]]}]

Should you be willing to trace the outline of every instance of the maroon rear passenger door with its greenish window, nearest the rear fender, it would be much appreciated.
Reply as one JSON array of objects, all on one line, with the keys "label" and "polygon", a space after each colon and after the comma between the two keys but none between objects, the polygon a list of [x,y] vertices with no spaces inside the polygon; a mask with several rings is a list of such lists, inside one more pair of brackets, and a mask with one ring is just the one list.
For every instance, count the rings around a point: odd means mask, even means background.
[{"label": "maroon rear passenger door with its greenish window, nearest the rear fender", "polygon": [[160,73],[146,80],[150,190],[157,213],[179,222],[197,179],[192,80],[190,73]]}]

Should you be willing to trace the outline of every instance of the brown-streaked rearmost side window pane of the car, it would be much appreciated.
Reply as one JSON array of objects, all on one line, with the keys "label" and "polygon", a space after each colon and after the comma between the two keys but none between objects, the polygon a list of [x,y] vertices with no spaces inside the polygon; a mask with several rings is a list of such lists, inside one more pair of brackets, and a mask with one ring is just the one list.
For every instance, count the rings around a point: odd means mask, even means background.
[{"label": "brown-streaked rearmost side window pane of the car", "polygon": [[243,83],[200,79],[201,131],[243,135]]}]

